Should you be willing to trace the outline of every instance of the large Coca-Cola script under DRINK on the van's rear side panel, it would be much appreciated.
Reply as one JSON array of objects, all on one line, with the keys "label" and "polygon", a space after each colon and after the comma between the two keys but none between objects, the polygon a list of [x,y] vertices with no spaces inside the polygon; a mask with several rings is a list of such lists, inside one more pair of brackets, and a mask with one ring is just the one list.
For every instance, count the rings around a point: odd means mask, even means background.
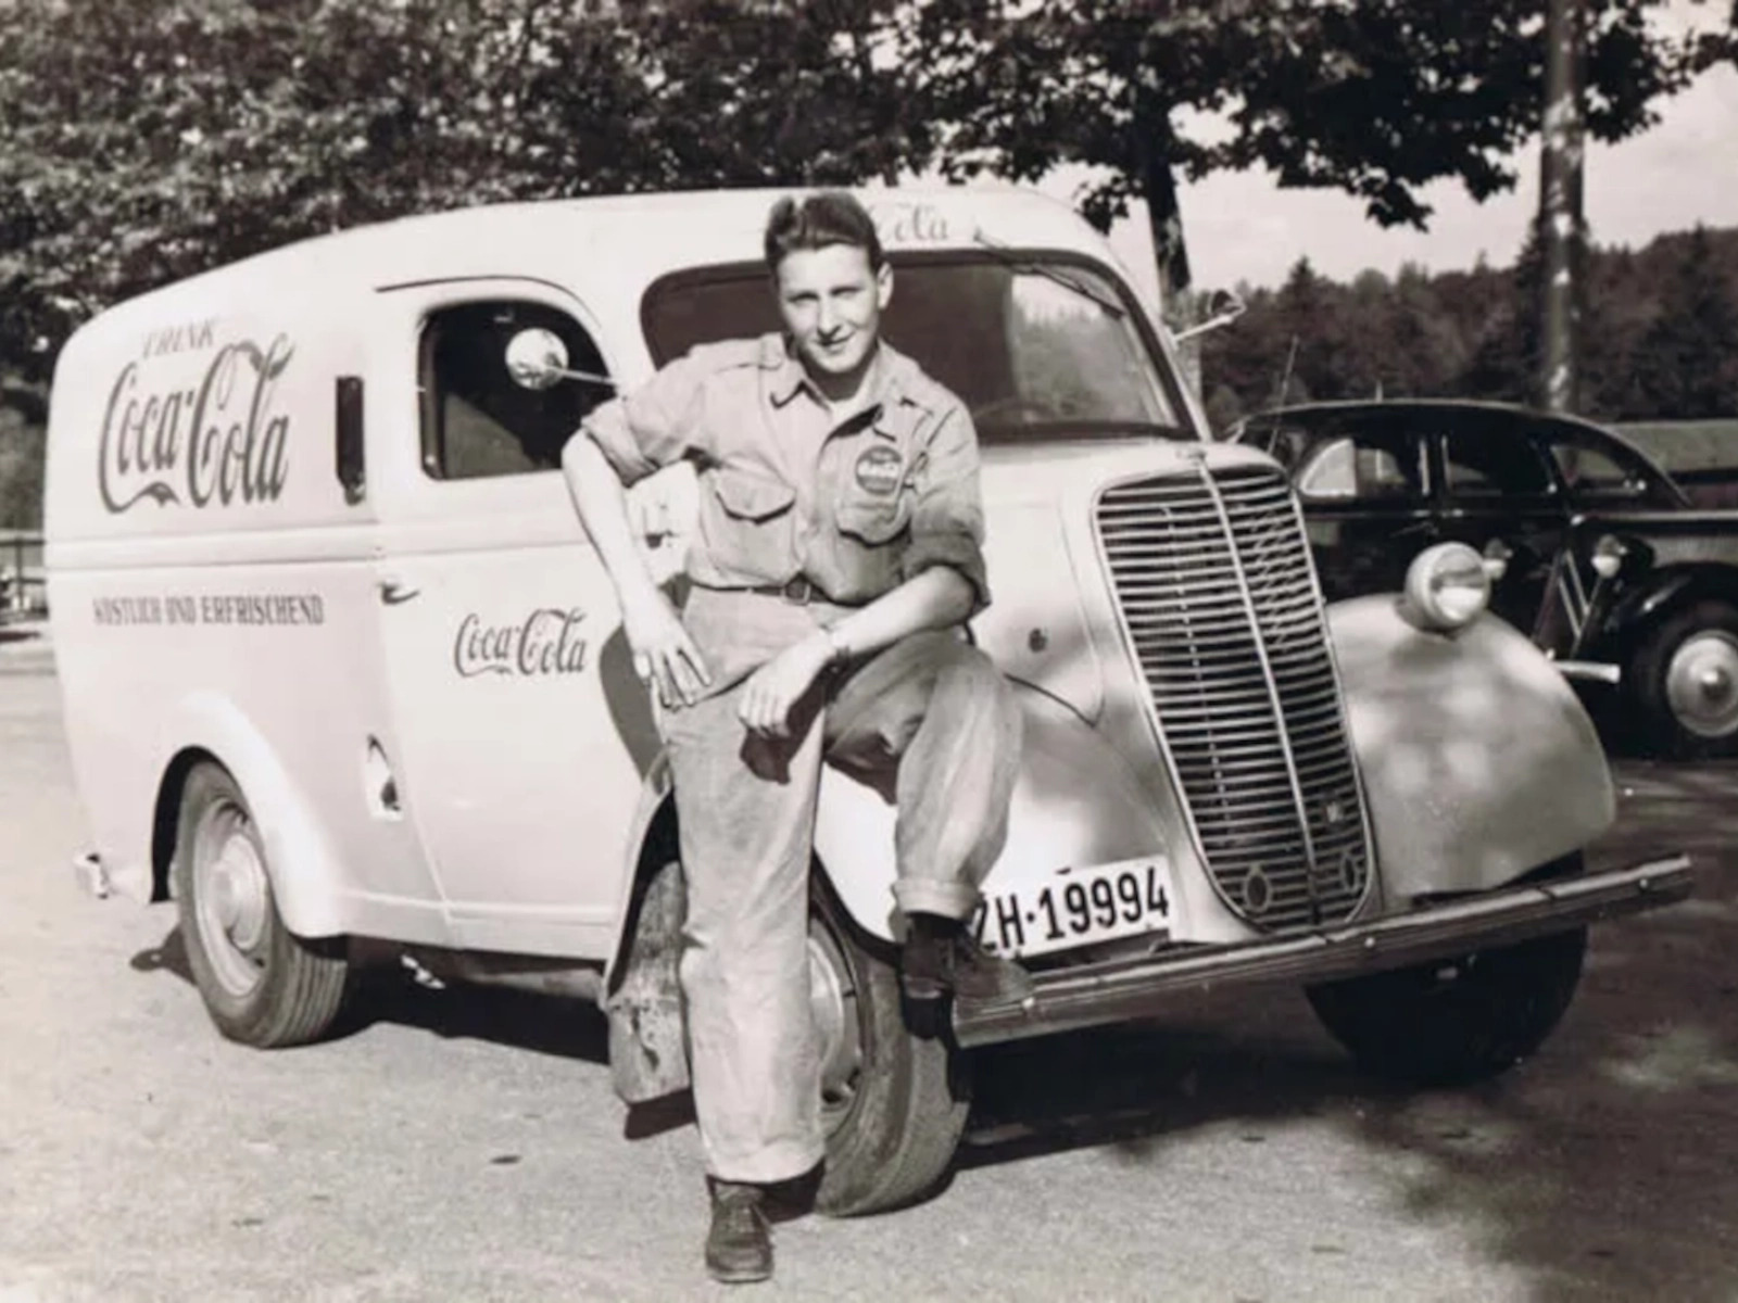
[{"label": "large Coca-Cola script under DRINK on the van's rear side panel", "polygon": [[139,363],[129,361],[115,377],[97,443],[103,506],[120,514],[146,499],[165,507],[276,500],[289,474],[290,419],[275,413],[271,400],[294,353],[287,335],[264,349],[233,341],[188,387],[148,387]]}]

